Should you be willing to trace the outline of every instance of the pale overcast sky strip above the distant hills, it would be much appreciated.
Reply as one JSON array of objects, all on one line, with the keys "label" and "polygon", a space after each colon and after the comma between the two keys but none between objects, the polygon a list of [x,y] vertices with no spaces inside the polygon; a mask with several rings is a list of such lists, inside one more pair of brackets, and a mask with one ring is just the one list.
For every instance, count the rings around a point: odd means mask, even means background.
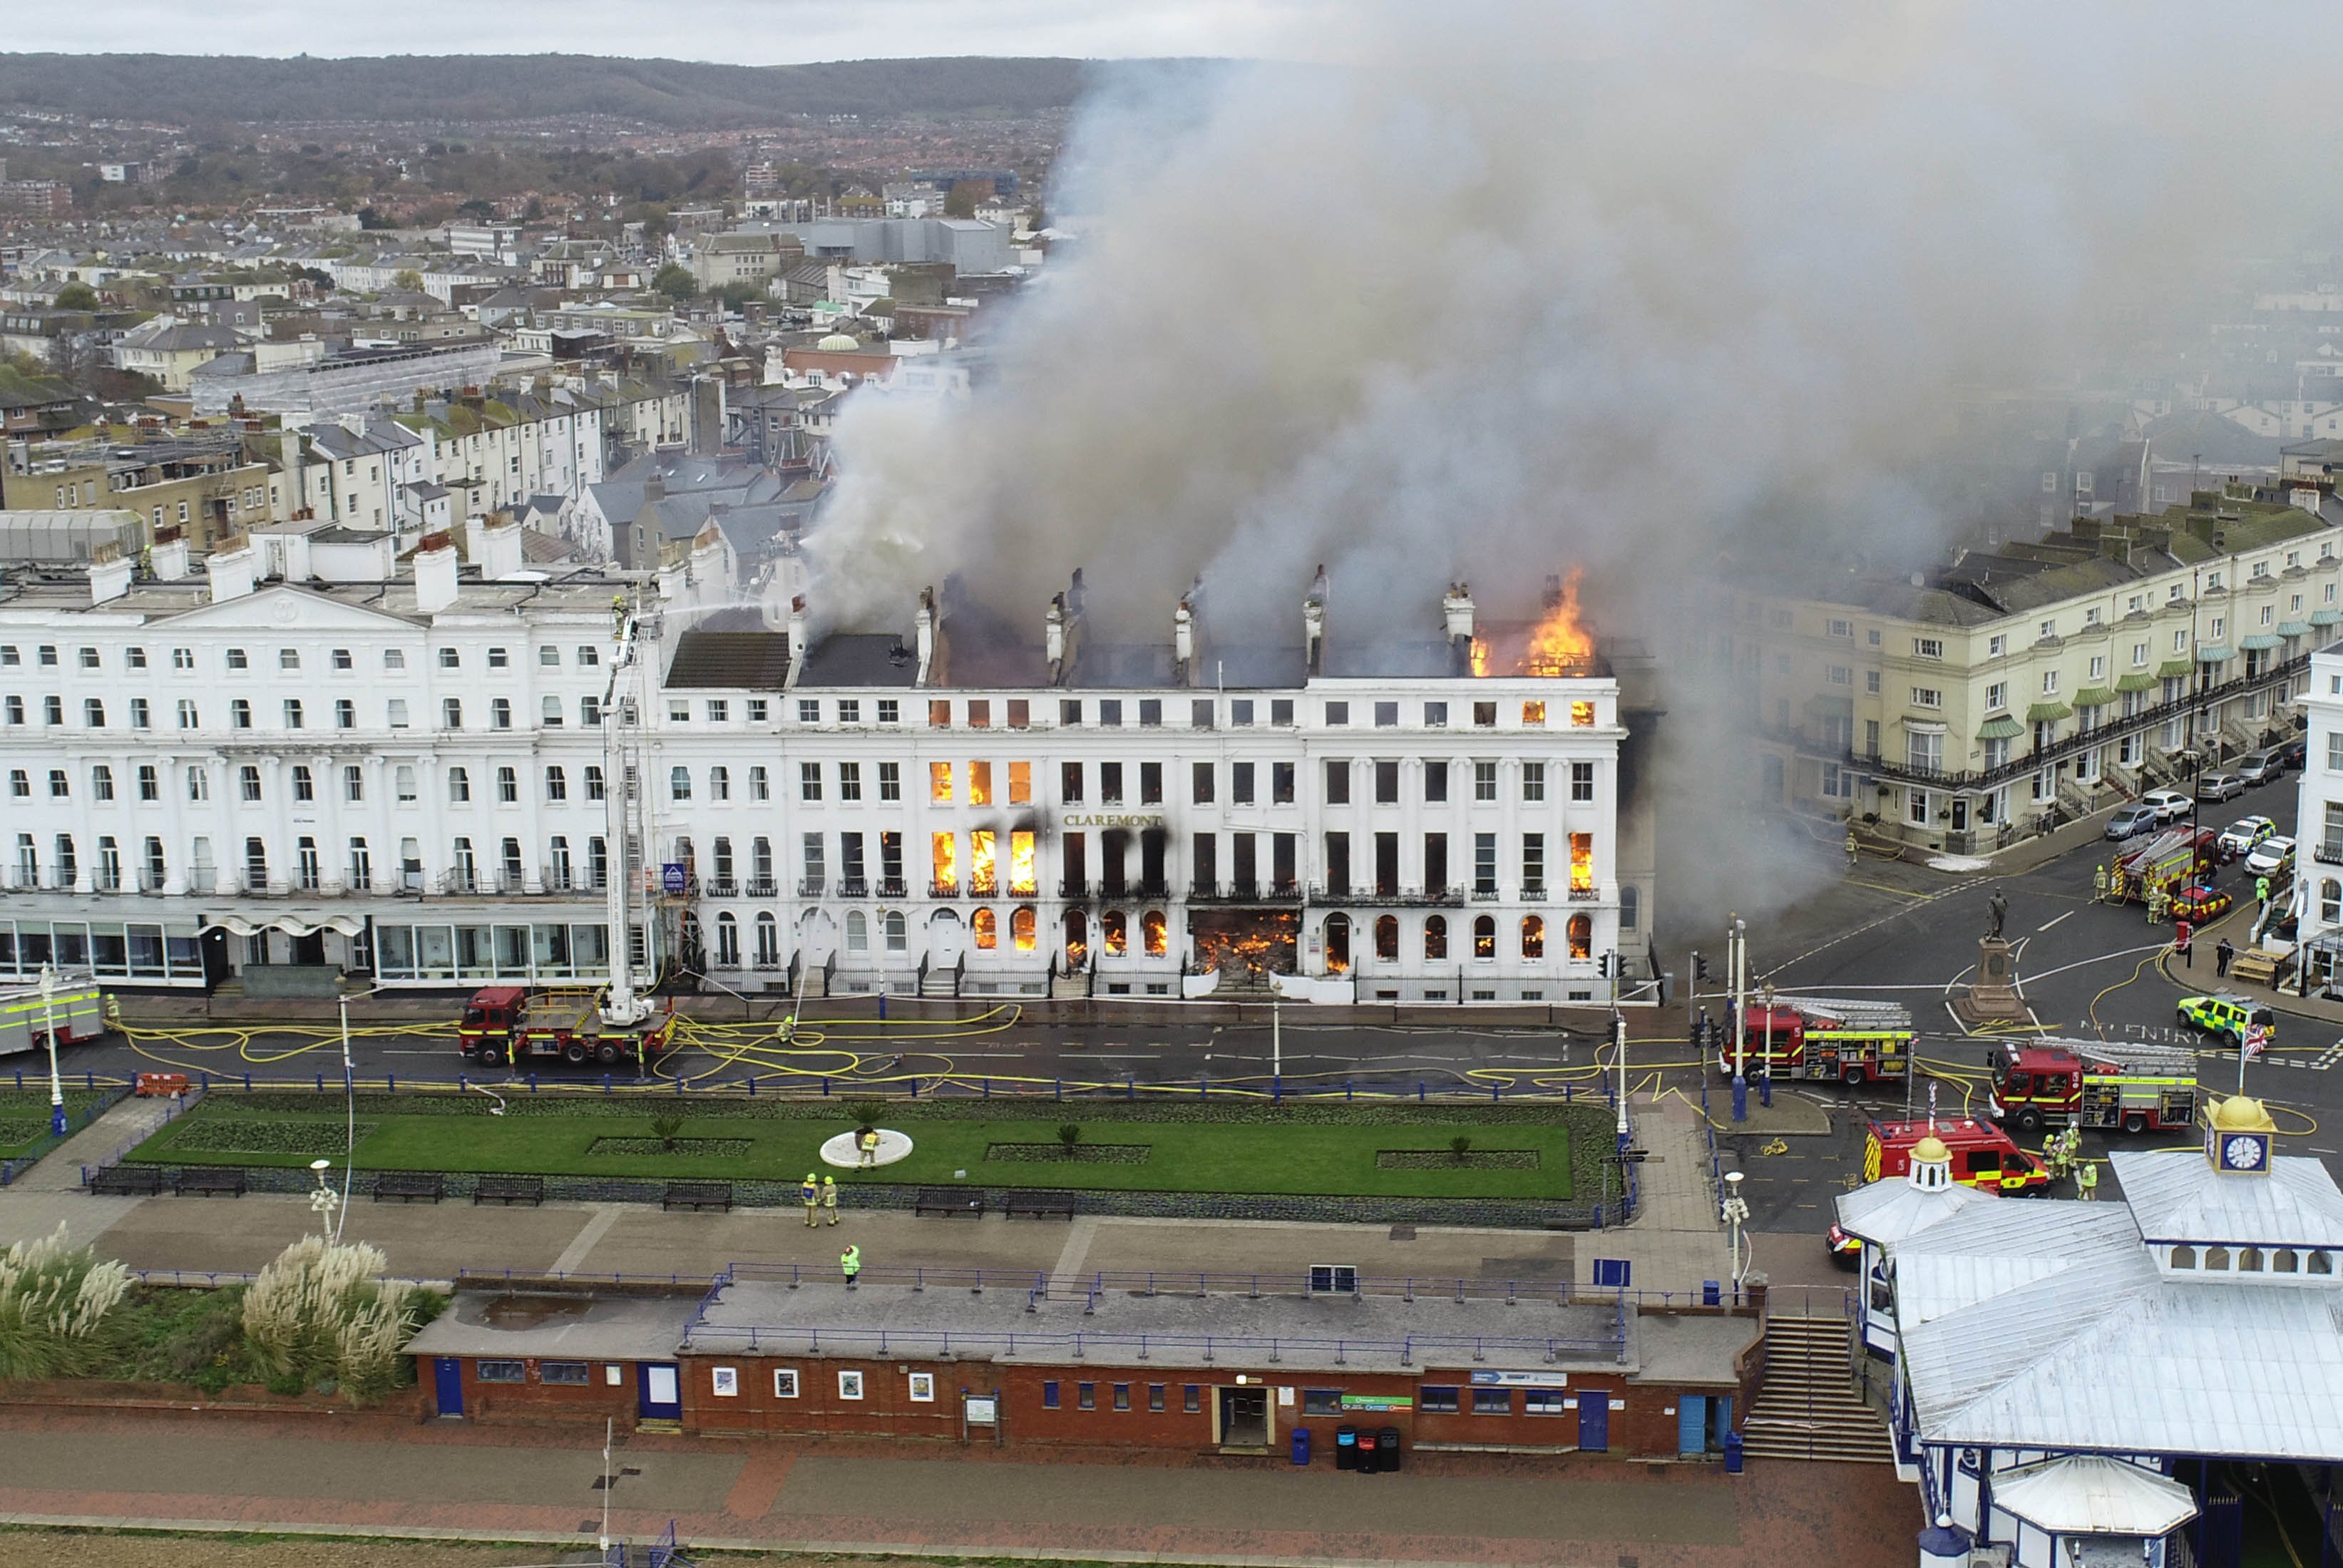
[{"label": "pale overcast sky strip above the distant hills", "polygon": [[1312,52],[1340,0],[405,0],[21,5],[9,52],[619,54],[736,63],[921,54]]}]

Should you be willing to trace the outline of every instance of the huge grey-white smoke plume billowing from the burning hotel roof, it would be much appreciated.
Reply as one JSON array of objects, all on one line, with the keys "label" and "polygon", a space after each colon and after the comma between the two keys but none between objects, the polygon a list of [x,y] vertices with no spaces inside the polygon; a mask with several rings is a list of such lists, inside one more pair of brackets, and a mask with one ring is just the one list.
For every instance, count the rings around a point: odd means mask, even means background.
[{"label": "huge grey-white smoke plume billowing from the burning hotel roof", "polygon": [[[1307,26],[1305,26],[1307,23]],[[2284,26],[2280,26],[2284,23]],[[2118,307],[2284,248],[2329,12],[1359,0],[1291,61],[1122,77],[1050,192],[1078,241],[965,403],[858,398],[815,612],[958,572],[1012,623],[1221,638],[1528,614],[1579,563],[1675,633],[1720,558],[1940,539],[1963,398],[2076,384]],[[2315,38],[2310,38],[2315,35]],[[2324,220],[2324,218],[2322,218]],[[1256,638],[1244,638],[1256,640]]]}]

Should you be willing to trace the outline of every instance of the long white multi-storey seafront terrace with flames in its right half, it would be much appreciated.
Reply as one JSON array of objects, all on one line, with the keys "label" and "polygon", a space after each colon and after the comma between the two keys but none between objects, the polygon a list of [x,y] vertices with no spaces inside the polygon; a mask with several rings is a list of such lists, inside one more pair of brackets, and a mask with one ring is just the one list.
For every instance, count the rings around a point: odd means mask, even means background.
[{"label": "long white multi-storey seafront terrace with flames in its right half", "polygon": [[715,607],[717,558],[656,595],[448,548],[412,584],[255,584],[239,553],[19,577],[0,977],[593,982],[614,867],[661,968],[733,991],[1607,1003],[1649,977],[1638,741],[1574,584],[1535,626],[1453,586],[1418,635],[1345,638],[1321,574],[1289,642],[1216,638],[1200,595],[1115,642],[1075,574],[1031,642],[933,593],[907,635],[813,638],[804,598]]}]

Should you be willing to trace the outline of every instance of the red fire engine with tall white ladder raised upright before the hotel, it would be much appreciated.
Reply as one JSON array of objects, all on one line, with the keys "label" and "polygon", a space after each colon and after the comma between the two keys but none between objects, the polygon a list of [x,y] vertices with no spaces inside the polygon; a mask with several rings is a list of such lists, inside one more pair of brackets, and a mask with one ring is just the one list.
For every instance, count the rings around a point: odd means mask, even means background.
[{"label": "red fire engine with tall white ladder raised upright before the hotel", "polygon": [[[633,1066],[649,1071],[675,1038],[675,1003],[656,1005],[647,994],[656,968],[644,963],[642,989],[635,980],[635,919],[628,909],[640,891],[649,902],[649,879],[637,877],[637,860],[651,841],[644,820],[640,766],[642,656],[644,630],[623,602],[612,605],[619,647],[609,684],[602,691],[602,778],[609,874],[602,884],[604,930],[609,947],[609,984],[600,991],[537,991],[520,987],[483,987],[464,1005],[457,1024],[457,1050],[480,1066]],[[654,635],[656,647],[656,635]],[[633,741],[633,745],[630,745]],[[651,956],[654,921],[642,919],[644,959]]]}]

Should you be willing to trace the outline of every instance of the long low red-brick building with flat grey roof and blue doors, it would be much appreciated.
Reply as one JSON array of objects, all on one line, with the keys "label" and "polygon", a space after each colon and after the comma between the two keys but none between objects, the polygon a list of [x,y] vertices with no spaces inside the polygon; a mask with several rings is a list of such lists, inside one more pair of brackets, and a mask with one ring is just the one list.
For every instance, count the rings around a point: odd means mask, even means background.
[{"label": "long low red-brick building with flat grey roof and blue doors", "polygon": [[848,1289],[736,1266],[698,1303],[546,1301],[459,1294],[417,1336],[443,1413],[1277,1458],[1307,1427],[1314,1463],[1347,1425],[1392,1427],[1403,1451],[1699,1458],[1762,1369],[1755,1303],[1350,1270],[1101,1275],[1052,1296],[1005,1270],[867,1270]]}]

